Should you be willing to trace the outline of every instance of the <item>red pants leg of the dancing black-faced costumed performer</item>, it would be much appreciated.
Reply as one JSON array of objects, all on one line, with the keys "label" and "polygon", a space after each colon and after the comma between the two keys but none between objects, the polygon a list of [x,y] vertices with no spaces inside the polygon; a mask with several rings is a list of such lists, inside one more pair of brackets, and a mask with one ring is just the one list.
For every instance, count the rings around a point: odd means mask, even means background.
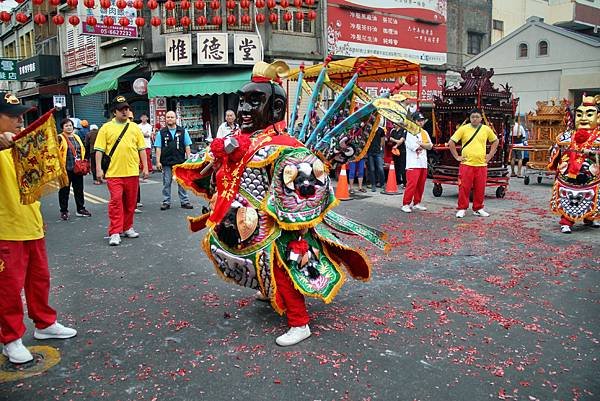
[{"label": "red pants leg of the dancing black-faced costumed performer", "polygon": [[288,326],[300,327],[308,324],[310,318],[304,304],[304,295],[294,288],[292,279],[278,261],[275,261],[273,273],[277,285],[276,301],[286,311]]}]

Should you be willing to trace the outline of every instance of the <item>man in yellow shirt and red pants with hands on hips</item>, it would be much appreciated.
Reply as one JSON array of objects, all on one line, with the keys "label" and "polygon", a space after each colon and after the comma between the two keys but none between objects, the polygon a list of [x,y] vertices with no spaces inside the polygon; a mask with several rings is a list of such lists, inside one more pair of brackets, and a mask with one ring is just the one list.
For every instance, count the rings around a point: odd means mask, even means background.
[{"label": "man in yellow shirt and red pants with hands on hips", "polygon": [[[465,213],[469,208],[471,189],[473,189],[473,214],[488,217],[490,214],[483,210],[487,164],[494,157],[496,149],[498,149],[498,137],[490,127],[481,123],[481,111],[472,110],[469,113],[469,120],[471,123],[458,128],[448,143],[452,156],[460,162],[456,217],[465,217]],[[462,145],[460,156],[456,151],[458,142]],[[488,142],[491,142],[491,146],[490,152],[486,154]]]}]

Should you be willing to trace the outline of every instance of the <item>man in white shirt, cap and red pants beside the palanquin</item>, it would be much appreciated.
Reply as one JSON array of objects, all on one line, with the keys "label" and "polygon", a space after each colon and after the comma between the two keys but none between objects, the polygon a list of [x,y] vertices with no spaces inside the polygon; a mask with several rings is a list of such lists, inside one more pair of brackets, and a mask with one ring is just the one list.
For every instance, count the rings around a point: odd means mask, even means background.
[{"label": "man in white shirt, cap and red pants beside the palanquin", "polygon": [[[412,116],[413,121],[421,127],[418,135],[406,135],[406,191],[402,199],[402,211],[410,213],[413,209],[427,210],[421,204],[425,181],[427,180],[427,151],[433,148],[433,143],[423,125],[427,121],[425,116],[416,112]],[[411,207],[412,205],[412,207]]]}]

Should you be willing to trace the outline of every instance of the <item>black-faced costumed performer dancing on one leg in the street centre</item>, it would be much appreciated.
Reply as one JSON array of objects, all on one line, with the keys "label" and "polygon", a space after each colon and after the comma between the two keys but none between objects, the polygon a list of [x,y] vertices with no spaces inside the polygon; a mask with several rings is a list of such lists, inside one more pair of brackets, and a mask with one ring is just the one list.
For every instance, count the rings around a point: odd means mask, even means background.
[{"label": "black-faced costumed performer dancing on one leg in the street centre", "polygon": [[[383,233],[330,211],[338,200],[323,154],[338,153],[329,148],[317,156],[287,134],[280,86],[287,71],[280,61],[255,65],[252,82],[239,92],[240,131],[215,139],[202,157],[174,169],[178,182],[209,200],[205,214],[190,218],[190,228],[208,227],[203,246],[217,272],[259,290],[278,313],[287,313],[290,329],[276,339],[280,346],[311,335],[304,296],[331,302],[345,280],[341,266],[355,279],[371,277],[366,255],[321,223],[386,247]],[[348,125],[355,127],[354,139],[363,138],[350,153],[363,157],[378,118]],[[335,139],[330,142],[339,145]]]}]

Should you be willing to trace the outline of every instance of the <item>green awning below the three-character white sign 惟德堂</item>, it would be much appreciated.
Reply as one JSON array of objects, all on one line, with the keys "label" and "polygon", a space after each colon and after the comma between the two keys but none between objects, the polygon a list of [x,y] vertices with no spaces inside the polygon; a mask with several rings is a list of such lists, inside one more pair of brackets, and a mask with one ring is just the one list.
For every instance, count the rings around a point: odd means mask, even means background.
[{"label": "green awning below the three-character white sign \u60df\u5fb7\u5802", "polygon": [[251,70],[226,72],[157,72],[148,82],[148,97],[235,93],[250,81]]}]

